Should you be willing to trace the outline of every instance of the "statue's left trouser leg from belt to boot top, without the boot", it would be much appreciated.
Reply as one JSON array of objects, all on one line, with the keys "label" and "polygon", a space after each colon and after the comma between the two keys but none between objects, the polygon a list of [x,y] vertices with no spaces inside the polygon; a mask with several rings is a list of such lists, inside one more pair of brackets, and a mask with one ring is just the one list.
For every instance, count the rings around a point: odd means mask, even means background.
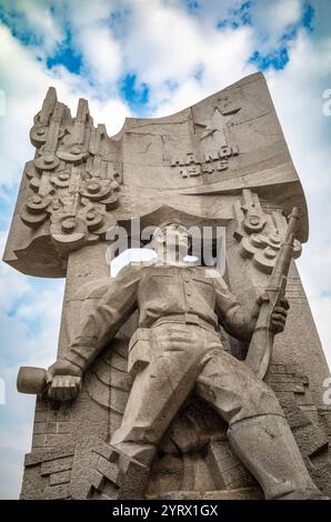
[{"label": "statue's left trouser leg from belt to boot top, without the boot", "polygon": [[144,464],[151,463],[160,439],[203,368],[200,345],[194,328],[170,323],[152,329],[149,362],[134,379],[111,444]]}]

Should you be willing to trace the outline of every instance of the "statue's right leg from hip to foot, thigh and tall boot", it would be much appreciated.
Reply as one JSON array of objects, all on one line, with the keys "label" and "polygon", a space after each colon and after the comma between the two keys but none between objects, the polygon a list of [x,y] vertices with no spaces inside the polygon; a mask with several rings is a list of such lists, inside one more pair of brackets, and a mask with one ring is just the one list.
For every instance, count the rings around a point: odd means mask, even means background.
[{"label": "statue's right leg from hip to foot, thigh and tall boot", "polygon": [[243,362],[215,350],[197,392],[229,423],[229,442],[267,499],[321,495],[274,393]]}]

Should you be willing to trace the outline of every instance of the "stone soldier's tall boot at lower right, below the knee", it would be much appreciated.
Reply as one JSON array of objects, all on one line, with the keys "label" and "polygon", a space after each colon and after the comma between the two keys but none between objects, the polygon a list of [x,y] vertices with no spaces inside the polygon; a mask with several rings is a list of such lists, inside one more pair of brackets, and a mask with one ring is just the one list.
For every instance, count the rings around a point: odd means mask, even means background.
[{"label": "stone soldier's tall boot at lower right, below the knee", "polygon": [[312,482],[291,429],[280,415],[234,422],[230,444],[263,489],[265,499],[327,499]]}]

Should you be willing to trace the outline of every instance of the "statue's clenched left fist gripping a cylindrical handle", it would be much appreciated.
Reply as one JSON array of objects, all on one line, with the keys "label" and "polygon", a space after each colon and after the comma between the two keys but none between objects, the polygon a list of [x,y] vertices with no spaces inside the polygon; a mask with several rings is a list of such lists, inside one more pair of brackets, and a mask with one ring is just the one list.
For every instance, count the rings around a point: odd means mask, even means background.
[{"label": "statue's clenched left fist gripping a cylindrical handle", "polygon": [[46,374],[48,395],[57,401],[71,401],[81,388],[82,371],[66,359],[58,359]]}]

